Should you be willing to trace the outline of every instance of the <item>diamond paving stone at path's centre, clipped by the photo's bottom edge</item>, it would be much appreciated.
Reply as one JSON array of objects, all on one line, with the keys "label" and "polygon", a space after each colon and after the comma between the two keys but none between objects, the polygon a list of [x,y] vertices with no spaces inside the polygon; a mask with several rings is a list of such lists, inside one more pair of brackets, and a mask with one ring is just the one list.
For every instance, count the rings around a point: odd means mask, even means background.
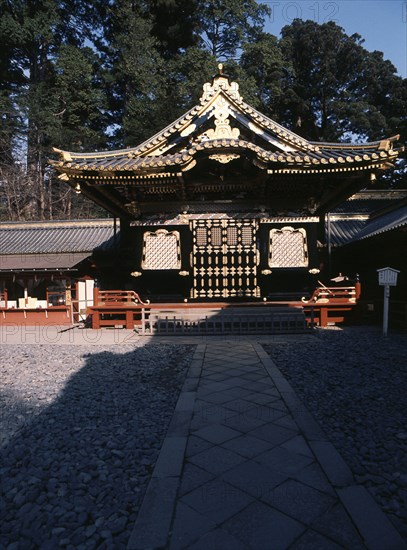
[{"label": "diamond paving stone at path's centre, clipped by the photo's bottom edge", "polygon": [[305,527],[292,518],[254,502],[223,526],[231,535],[255,550],[286,550]]}]

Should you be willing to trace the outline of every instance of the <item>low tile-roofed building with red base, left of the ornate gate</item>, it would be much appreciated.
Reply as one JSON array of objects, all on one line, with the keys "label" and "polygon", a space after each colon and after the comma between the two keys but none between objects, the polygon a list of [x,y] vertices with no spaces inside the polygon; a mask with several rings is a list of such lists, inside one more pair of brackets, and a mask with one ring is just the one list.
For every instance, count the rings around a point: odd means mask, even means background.
[{"label": "low tile-roofed building with red base, left of the ornate gate", "polygon": [[113,220],[0,224],[0,324],[84,320],[99,276],[92,255],[114,249]]}]

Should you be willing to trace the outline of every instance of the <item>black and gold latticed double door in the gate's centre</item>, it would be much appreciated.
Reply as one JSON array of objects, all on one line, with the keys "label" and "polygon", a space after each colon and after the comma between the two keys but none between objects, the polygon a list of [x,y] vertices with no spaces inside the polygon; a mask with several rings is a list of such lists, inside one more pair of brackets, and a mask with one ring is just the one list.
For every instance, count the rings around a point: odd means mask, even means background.
[{"label": "black and gold latticed double door in the gate's centre", "polygon": [[193,220],[192,298],[258,297],[255,220]]}]

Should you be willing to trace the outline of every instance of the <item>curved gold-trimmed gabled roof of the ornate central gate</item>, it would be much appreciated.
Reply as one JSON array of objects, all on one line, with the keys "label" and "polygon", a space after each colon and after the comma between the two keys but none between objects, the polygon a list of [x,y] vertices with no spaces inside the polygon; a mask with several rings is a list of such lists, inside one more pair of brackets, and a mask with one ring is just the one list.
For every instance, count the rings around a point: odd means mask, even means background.
[{"label": "curved gold-trimmed gabled roof of the ornate central gate", "polygon": [[312,203],[309,211],[317,211],[332,206],[339,192],[339,184],[334,192],[321,187],[321,176],[350,176],[354,192],[361,174],[392,166],[402,150],[393,148],[397,139],[361,145],[308,141],[245,103],[238,84],[220,69],[204,85],[198,105],[139,146],[96,153],[55,149],[60,158],[51,164],[62,180],[129,218],[157,198],[185,203],[214,194],[253,196],[253,185],[266,203],[295,194],[303,210]]}]

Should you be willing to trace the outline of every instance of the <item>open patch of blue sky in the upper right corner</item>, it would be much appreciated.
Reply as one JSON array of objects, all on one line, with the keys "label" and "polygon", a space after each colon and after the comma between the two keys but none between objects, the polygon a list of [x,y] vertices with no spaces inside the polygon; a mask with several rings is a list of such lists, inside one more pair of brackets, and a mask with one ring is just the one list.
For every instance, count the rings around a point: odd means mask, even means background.
[{"label": "open patch of blue sky in the upper right corner", "polygon": [[261,0],[272,8],[266,30],[279,36],[296,17],[335,21],[348,35],[358,33],[367,50],[379,50],[407,77],[407,0]]}]

